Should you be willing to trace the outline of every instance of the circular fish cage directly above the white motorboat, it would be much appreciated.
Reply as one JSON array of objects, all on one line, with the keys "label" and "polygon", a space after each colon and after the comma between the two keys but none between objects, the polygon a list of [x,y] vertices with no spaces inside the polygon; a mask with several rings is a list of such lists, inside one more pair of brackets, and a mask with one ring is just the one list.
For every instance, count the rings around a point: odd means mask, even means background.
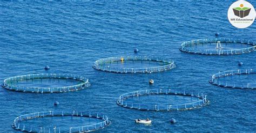
[{"label": "circular fish cage directly above the white motorboat", "polygon": [[[172,95],[172,99],[170,98]],[[154,98],[153,96],[157,96]],[[132,99],[132,100],[129,100]],[[167,99],[167,100],[166,100]],[[186,102],[184,102],[186,100]],[[176,103],[170,103],[175,101]],[[160,102],[160,104],[159,104]],[[164,103],[166,102],[166,104]],[[208,105],[210,101],[204,94],[193,94],[171,89],[134,91],[120,95],[117,105],[143,111],[190,110]]]}]

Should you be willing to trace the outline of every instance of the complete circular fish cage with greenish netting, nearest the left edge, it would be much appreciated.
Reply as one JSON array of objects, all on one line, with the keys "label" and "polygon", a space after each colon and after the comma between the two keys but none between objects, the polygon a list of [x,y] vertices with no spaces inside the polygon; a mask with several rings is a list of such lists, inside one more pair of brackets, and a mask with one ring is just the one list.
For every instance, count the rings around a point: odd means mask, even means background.
[{"label": "complete circular fish cage with greenish netting, nearest the left edge", "polygon": [[[31,82],[35,83],[32,85],[24,85],[23,82]],[[44,83],[44,86],[41,87],[38,84]],[[68,86],[57,86],[53,85],[49,86],[50,83],[54,82],[72,82]],[[89,83],[89,79],[83,76],[75,76],[75,75],[66,75],[66,74],[56,74],[56,73],[40,73],[40,74],[32,74],[32,75],[22,75],[15,76],[4,79],[2,86],[11,91],[18,92],[32,92],[32,93],[62,93],[62,92],[70,92],[70,91],[78,91],[82,90],[86,87],[89,87],[91,84]]]}]

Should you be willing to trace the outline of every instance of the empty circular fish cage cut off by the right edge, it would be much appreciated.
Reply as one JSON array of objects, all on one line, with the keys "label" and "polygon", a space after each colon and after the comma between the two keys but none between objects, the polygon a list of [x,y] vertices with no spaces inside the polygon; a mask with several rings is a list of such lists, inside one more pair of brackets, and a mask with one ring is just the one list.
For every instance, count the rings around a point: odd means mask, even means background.
[{"label": "empty circular fish cage cut off by the right edge", "polygon": [[[250,76],[256,72],[253,69],[239,69],[215,73],[209,83],[227,88],[256,89],[255,77]],[[237,80],[236,82],[234,82]]]}]

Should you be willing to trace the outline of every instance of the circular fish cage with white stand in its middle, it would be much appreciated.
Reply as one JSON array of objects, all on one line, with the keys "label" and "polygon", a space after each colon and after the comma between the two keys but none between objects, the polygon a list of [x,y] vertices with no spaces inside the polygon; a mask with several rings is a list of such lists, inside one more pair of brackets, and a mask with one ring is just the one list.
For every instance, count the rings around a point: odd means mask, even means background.
[{"label": "circular fish cage with white stand in its middle", "polygon": [[199,39],[183,42],[180,51],[200,55],[237,55],[255,51],[256,41],[244,39]]}]

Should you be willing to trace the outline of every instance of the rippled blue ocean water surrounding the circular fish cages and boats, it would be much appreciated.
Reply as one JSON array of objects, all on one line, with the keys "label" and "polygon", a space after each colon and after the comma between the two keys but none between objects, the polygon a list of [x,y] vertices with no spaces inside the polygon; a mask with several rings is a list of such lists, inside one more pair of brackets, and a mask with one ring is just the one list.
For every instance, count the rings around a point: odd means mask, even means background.
[{"label": "rippled blue ocean water surrounding the circular fish cages and boats", "polygon": [[[234,2],[234,1],[233,1]],[[204,2],[0,2],[0,80],[27,73],[68,73],[90,79],[91,87],[70,93],[34,94],[0,89],[1,132],[15,117],[48,110],[87,110],[109,116],[102,132],[256,131],[254,90],[211,85],[213,73],[254,69],[256,52],[203,56],[179,51],[194,39],[253,39],[256,24],[245,29],[227,20],[232,1]],[[255,6],[256,2],[251,1]],[[138,54],[133,49],[138,48]],[[97,71],[93,62],[106,57],[149,55],[172,58],[177,68],[157,73],[117,74]],[[244,63],[238,66],[238,61]],[[51,68],[45,71],[45,65]],[[154,85],[149,85],[154,79]],[[171,87],[207,94],[211,104],[183,112],[140,112],[116,105],[120,94]],[[59,101],[54,107],[53,102]],[[167,102],[167,101],[166,101]],[[134,123],[150,117],[152,125]],[[169,120],[175,118],[176,124]]]}]

